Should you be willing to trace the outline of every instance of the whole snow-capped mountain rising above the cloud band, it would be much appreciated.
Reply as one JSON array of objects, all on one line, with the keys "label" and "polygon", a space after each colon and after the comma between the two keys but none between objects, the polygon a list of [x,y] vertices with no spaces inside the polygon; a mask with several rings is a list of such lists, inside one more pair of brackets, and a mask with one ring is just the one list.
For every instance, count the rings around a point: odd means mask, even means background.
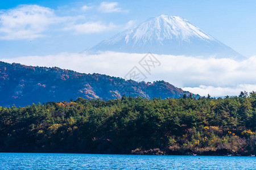
[{"label": "whole snow-capped mountain rising above the cloud band", "polygon": [[87,49],[245,59],[229,46],[179,16],[160,15]]}]

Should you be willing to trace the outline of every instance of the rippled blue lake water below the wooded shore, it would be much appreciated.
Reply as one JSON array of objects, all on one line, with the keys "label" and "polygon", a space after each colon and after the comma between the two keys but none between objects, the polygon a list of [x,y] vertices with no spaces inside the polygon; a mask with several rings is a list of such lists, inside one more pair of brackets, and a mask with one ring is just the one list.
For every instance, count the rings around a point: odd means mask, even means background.
[{"label": "rippled blue lake water below the wooded shore", "polygon": [[256,169],[256,157],[0,153],[0,169]]}]

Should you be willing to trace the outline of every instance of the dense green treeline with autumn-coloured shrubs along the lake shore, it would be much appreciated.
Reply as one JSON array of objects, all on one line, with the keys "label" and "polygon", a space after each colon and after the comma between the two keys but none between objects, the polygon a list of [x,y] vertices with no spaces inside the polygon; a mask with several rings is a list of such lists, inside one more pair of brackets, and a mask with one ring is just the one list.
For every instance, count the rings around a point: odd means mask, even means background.
[{"label": "dense green treeline with autumn-coloured shrubs along the lake shore", "polygon": [[0,152],[250,155],[256,93],[0,107]]}]

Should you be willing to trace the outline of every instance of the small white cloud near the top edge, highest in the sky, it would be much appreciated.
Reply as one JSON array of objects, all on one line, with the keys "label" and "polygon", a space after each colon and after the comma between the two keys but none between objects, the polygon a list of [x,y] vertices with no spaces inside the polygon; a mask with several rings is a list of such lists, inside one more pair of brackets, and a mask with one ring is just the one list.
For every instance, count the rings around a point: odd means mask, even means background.
[{"label": "small white cloud near the top edge, highest in the sky", "polygon": [[122,10],[122,8],[117,6],[117,2],[101,2],[100,6],[98,7],[98,11],[103,13],[128,12],[127,10]]}]

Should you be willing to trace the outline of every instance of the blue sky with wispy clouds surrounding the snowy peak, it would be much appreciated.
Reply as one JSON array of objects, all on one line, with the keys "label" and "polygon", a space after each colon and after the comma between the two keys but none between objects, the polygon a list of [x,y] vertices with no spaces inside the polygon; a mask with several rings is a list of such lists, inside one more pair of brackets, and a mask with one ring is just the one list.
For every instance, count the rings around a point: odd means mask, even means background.
[{"label": "blue sky with wispy clouds surrounding the snowy peak", "polygon": [[[250,57],[256,54],[255,7],[253,0],[1,1],[0,59],[81,52],[160,14],[181,16]],[[15,15],[26,14],[31,9],[37,16],[31,14],[27,23],[20,26],[23,18],[15,19]],[[10,24],[12,22],[14,26]],[[19,26],[15,27],[15,24]]]}]

